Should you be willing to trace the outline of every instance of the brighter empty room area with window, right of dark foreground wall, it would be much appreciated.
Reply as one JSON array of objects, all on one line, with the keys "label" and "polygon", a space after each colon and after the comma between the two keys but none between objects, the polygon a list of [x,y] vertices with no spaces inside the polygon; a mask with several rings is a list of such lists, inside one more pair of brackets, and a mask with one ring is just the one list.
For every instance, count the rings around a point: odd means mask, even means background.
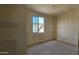
[{"label": "brighter empty room area with window, right of dark foreground wall", "polygon": [[79,5],[26,5],[28,55],[78,54]]}]

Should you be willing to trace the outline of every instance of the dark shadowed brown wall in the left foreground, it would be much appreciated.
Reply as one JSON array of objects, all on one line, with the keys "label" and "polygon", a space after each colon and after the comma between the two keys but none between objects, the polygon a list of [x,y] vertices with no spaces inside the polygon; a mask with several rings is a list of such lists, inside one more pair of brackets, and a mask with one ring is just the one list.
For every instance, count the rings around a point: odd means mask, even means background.
[{"label": "dark shadowed brown wall in the left foreground", "polygon": [[0,52],[26,53],[24,8],[24,5],[0,5]]}]

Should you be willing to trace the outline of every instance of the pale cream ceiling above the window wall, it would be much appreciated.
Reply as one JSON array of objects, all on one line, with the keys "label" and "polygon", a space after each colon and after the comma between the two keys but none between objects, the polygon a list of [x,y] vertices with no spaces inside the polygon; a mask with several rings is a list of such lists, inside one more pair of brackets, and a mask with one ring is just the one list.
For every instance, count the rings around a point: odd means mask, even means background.
[{"label": "pale cream ceiling above the window wall", "polygon": [[30,8],[36,12],[41,12],[44,14],[55,15],[72,8],[70,4],[27,4],[27,8]]}]

